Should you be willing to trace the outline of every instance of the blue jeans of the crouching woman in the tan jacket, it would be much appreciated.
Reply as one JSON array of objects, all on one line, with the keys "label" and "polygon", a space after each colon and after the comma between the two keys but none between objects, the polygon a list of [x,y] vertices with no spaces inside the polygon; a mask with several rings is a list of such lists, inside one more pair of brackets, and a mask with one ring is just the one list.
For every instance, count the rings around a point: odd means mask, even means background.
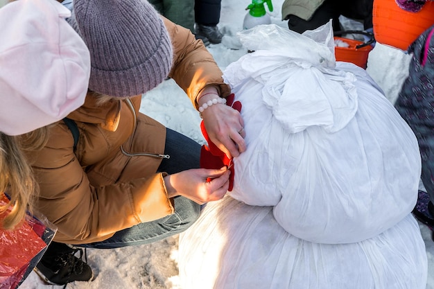
[{"label": "blue jeans of the crouching woman in the tan jacket", "polygon": [[[158,171],[173,174],[182,170],[188,170],[189,168],[199,168],[200,144],[174,130],[167,128],[166,132],[164,154],[171,157],[170,159],[163,159]],[[116,232],[111,238],[101,242],[77,246],[112,249],[132,245],[144,245],[180,234],[198,219],[200,205],[181,196],[175,197],[173,200],[175,202],[175,213],[169,216],[123,229]]]}]

